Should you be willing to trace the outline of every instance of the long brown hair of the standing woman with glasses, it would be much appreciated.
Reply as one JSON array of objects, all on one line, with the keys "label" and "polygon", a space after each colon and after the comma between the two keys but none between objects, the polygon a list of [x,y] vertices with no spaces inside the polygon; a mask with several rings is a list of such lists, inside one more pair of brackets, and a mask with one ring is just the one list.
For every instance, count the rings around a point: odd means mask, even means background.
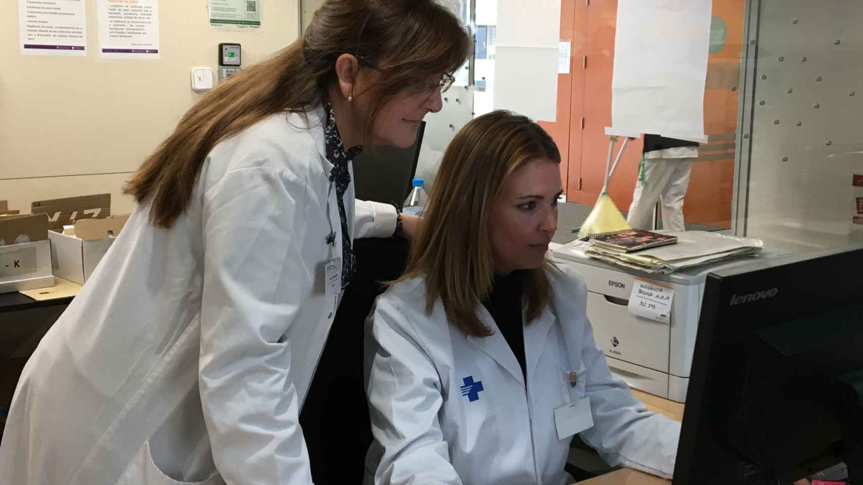
[{"label": "long brown hair of the standing woman with glasses", "polygon": [[302,37],[274,58],[237,74],[204,96],[135,172],[126,193],[152,200],[155,226],[171,227],[186,211],[213,146],[277,113],[320,105],[337,81],[336,59],[350,53],[381,72],[365,138],[394,96],[425,87],[467,59],[468,34],[433,0],[327,0]]}]

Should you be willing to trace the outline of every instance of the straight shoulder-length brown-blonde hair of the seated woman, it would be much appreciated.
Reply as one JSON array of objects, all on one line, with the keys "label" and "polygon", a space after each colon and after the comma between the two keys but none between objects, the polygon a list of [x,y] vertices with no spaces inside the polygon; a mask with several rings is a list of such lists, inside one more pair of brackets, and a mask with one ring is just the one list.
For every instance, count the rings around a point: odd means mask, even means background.
[{"label": "straight shoulder-length brown-blonde hair of the seated woman", "polygon": [[[508,111],[477,117],[450,142],[406,272],[398,280],[425,277],[426,313],[440,298],[450,323],[468,335],[491,335],[477,314],[494,283],[489,221],[509,177],[535,159],[559,164],[560,152],[542,127]],[[546,263],[525,271],[528,323],[551,299],[550,268]]]}]

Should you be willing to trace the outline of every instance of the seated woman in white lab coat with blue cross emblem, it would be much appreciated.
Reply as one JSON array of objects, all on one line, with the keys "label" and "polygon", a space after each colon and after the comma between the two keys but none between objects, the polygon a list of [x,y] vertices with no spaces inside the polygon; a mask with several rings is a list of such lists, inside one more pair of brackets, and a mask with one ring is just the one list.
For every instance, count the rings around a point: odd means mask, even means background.
[{"label": "seated woman in white lab coat with blue cross emblem", "polygon": [[610,464],[673,473],[679,424],[611,376],[582,279],[546,257],[559,165],[506,111],[450,143],[406,273],[367,323],[367,483],[571,483],[576,433]]}]

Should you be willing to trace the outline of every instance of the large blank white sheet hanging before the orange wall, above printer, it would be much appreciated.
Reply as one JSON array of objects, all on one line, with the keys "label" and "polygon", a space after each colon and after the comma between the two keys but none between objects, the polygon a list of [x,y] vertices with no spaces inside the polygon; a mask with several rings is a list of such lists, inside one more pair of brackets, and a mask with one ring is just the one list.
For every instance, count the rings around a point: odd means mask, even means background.
[{"label": "large blank white sheet hanging before the orange wall, above printer", "polygon": [[[612,132],[706,141],[712,0],[619,0]],[[658,35],[657,33],[666,33]]]}]

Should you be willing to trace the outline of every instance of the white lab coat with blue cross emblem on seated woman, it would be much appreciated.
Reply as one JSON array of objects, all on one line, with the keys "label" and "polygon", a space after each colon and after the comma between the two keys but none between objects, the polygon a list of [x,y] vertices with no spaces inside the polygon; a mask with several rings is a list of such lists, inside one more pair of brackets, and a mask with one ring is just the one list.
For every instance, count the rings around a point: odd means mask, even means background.
[{"label": "white lab coat with blue cross emblem on seated woman", "polygon": [[[564,271],[551,278],[553,302],[525,326],[526,385],[482,305],[494,334],[476,338],[447,321],[440,300],[425,314],[421,278],[381,295],[367,323],[375,443],[366,483],[571,483],[564,472],[571,437],[557,437],[554,411],[585,396],[595,423],[581,432],[585,442],[610,464],[671,476],[680,425],[647,412],[611,376],[585,312],[587,289]],[[482,382],[476,401],[463,395],[465,377]]]}]

